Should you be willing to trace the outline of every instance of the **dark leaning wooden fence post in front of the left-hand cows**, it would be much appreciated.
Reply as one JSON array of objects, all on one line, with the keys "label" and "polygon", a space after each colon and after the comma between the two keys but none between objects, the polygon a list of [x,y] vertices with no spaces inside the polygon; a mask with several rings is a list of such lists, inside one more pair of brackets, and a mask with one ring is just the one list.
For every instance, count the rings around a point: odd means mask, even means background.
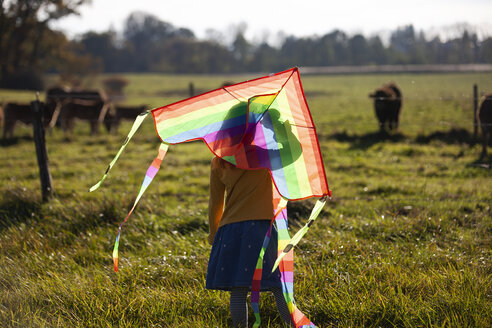
[{"label": "dark leaning wooden fence post in front of the left-hand cows", "polygon": [[51,198],[53,188],[51,187],[51,174],[48,167],[48,153],[46,152],[46,143],[43,126],[43,103],[39,100],[31,101],[33,113],[34,143],[36,144],[36,155],[38,157],[39,176],[41,178],[41,193],[43,202]]}]

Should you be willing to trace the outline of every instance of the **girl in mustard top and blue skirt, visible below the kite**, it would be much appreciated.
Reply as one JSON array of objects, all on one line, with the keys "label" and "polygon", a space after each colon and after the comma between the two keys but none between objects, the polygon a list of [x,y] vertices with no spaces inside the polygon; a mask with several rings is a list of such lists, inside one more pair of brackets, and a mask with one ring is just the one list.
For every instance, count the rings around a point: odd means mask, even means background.
[{"label": "girl in mustard top and blue skirt, visible below the kite", "polygon": [[[206,288],[230,291],[234,327],[248,326],[246,297],[273,211],[268,170],[243,170],[218,157],[212,160],[208,237],[212,250]],[[271,273],[276,258],[277,231],[272,227],[264,256],[261,290],[273,292],[282,319],[294,327],[282,293],[280,272],[277,269]]]}]

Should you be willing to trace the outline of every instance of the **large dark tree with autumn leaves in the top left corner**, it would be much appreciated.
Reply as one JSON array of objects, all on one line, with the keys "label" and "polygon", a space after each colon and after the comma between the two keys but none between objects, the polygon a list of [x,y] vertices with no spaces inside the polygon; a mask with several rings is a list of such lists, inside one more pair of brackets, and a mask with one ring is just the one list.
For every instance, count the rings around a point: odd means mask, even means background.
[{"label": "large dark tree with autumn leaves in the top left corner", "polygon": [[[50,22],[67,15],[87,0],[0,1],[0,86],[42,87],[45,59],[62,52],[67,40],[50,29]],[[49,42],[55,37],[59,43]]]}]

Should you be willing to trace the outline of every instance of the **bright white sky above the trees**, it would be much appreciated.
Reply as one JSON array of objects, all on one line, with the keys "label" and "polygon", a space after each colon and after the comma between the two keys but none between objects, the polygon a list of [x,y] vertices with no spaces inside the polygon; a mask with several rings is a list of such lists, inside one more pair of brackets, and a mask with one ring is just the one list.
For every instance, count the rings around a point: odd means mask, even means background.
[{"label": "bright white sky above the trees", "polygon": [[[117,31],[134,11],[143,11],[191,29],[204,37],[207,29],[227,33],[234,25],[247,24],[246,36],[263,38],[283,31],[287,35],[323,35],[334,29],[349,34],[381,34],[413,24],[417,30],[459,33],[456,23],[492,35],[492,0],[92,0],[81,16],[60,20],[56,27],[69,36],[89,30]],[[453,35],[450,35],[453,37]]]}]

